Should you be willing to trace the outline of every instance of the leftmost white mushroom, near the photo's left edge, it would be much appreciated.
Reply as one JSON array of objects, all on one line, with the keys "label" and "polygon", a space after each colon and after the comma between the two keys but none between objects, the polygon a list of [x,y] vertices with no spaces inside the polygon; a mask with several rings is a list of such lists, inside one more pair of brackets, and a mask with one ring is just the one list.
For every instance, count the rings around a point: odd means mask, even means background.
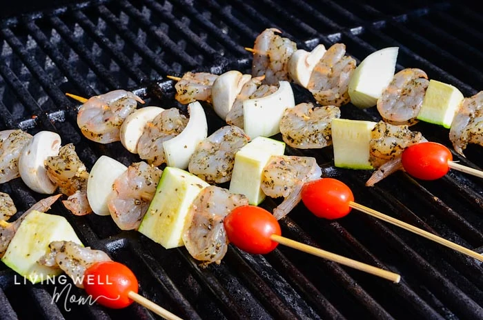
[{"label": "leftmost white mushroom, near the photo's left edge", "polygon": [[50,181],[45,161],[59,154],[61,137],[51,131],[41,131],[23,147],[19,156],[19,172],[28,188],[43,194],[52,194],[57,185]]}]

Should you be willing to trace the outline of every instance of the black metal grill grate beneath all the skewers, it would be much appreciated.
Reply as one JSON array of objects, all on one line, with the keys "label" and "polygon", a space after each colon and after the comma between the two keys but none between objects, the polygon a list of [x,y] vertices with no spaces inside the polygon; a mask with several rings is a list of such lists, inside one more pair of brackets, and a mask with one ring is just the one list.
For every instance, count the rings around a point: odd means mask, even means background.
[{"label": "black metal grill grate beneath all the skewers", "polygon": [[[345,43],[359,63],[371,52],[399,46],[397,70],[422,68],[430,79],[451,83],[465,97],[482,88],[483,32],[480,8],[465,1],[40,1],[26,12],[13,3],[0,21],[0,130],[59,132],[75,143],[92,168],[106,154],[129,165],[139,161],[120,143],[100,145],[83,138],[77,104],[65,92],[84,97],[109,90],[134,90],[147,105],[171,108],[172,81],[186,71],[249,73],[257,34],[275,27],[307,50]],[[55,7],[54,7],[55,6]],[[296,103],[312,101],[294,86]],[[206,106],[208,134],[224,123]],[[348,105],[342,117],[378,121],[375,108]],[[451,146],[448,130],[418,123],[414,130]],[[278,137],[280,138],[280,137]],[[288,154],[316,157],[324,175],[353,189],[357,202],[402,219],[462,246],[483,252],[481,180],[451,171],[438,181],[415,181],[397,172],[374,188],[371,172],[333,167],[331,147]],[[469,146],[460,163],[482,166],[482,149]],[[473,162],[474,161],[474,162]],[[478,162],[479,161],[479,162]],[[0,186],[19,214],[42,198],[20,179]],[[278,200],[267,199],[271,209]],[[337,221],[317,219],[303,205],[282,219],[284,236],[402,274],[399,284],[279,246],[264,256],[230,246],[219,266],[201,268],[186,249],[164,250],[139,232],[121,232],[110,217],[61,214],[86,246],[106,250],[129,266],[140,292],[184,319],[483,319],[483,268],[458,254],[399,228],[352,212]],[[133,304],[108,310],[52,303],[61,286],[17,285],[14,272],[0,267],[2,319],[156,319]],[[72,288],[70,294],[80,296]],[[67,308],[66,308],[67,307]],[[70,310],[68,310],[70,309]]]}]

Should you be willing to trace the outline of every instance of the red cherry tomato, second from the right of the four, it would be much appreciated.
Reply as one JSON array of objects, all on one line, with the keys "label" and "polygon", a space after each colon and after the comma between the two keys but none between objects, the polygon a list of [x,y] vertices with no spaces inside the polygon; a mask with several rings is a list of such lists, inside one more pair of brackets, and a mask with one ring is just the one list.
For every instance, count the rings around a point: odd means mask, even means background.
[{"label": "red cherry tomato, second from the right of the four", "polygon": [[337,179],[318,179],[302,187],[302,202],[320,218],[337,219],[346,216],[352,209],[350,201],[354,201],[351,189]]}]

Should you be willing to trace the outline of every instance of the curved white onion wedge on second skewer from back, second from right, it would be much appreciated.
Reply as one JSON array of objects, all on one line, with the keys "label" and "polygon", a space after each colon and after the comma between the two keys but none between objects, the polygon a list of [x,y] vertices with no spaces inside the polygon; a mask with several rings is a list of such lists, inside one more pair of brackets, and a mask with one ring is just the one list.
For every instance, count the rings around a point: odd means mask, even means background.
[{"label": "curved white onion wedge on second skewer from back, second from right", "polygon": [[279,88],[263,98],[243,101],[243,122],[250,139],[271,137],[280,132],[280,120],[287,108],[295,106],[292,87],[288,81],[279,81]]}]

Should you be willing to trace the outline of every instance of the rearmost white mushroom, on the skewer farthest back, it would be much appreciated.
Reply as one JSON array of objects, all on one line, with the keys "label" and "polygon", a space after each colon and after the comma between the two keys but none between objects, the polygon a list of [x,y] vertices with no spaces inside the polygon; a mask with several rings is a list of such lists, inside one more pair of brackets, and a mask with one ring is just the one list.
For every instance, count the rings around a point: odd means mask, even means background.
[{"label": "rearmost white mushroom, on the skewer farthest back", "polygon": [[326,47],[323,44],[315,47],[311,52],[299,49],[295,51],[288,61],[288,74],[300,86],[307,88],[312,71],[324,54]]}]

